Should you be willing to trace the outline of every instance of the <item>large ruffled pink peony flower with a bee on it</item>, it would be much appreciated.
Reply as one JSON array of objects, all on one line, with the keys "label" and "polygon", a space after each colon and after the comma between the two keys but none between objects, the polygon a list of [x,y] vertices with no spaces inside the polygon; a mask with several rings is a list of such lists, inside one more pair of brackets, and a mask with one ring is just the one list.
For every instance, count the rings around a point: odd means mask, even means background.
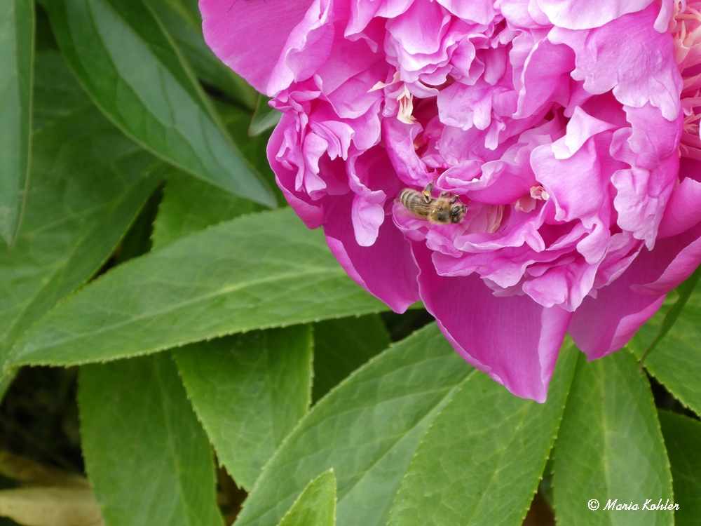
[{"label": "large ruffled pink peony flower with a bee on it", "polygon": [[[207,43],[283,112],[268,159],[307,226],[541,402],[566,332],[606,356],[701,260],[700,6],[200,0]],[[397,203],[431,182],[462,221]]]}]

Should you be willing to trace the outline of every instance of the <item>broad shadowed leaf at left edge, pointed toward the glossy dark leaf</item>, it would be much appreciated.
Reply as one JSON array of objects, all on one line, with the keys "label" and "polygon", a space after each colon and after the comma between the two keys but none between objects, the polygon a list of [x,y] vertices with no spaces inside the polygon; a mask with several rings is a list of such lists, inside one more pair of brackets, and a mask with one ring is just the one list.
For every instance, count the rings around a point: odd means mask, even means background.
[{"label": "broad shadowed leaf at left edge, pointed toward the glossy dark leaf", "polygon": [[163,180],[161,162],[90,103],[58,53],[36,56],[34,159],[24,226],[0,250],[0,361],[93,276]]}]

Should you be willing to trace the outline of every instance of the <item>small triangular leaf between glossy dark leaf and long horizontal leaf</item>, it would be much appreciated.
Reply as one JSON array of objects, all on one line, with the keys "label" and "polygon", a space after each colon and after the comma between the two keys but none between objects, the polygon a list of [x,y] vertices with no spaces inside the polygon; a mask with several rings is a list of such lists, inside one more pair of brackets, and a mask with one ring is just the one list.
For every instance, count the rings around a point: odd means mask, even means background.
[{"label": "small triangular leaf between glossy dark leaf and long horizontal leaf", "polygon": [[154,248],[204,230],[213,224],[264,210],[262,205],[229,194],[175,170],[168,176],[154,222]]}]

